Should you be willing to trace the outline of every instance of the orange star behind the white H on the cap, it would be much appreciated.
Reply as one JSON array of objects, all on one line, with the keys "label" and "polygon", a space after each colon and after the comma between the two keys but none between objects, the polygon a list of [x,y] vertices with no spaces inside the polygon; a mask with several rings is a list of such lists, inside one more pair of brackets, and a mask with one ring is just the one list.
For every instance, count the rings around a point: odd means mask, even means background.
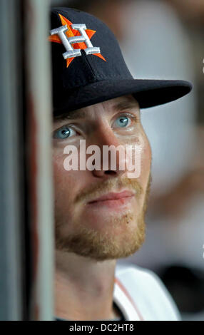
[{"label": "orange star behind the white H on the cap", "polygon": [[[67,26],[67,29],[68,29],[66,31],[66,36],[67,37],[80,36],[80,32],[78,30],[71,28],[71,24],[72,24],[71,21],[69,21],[68,19],[66,19],[61,14],[58,14],[58,15],[59,15],[59,17],[61,19],[61,24],[63,26],[65,26],[65,25]],[[91,39],[91,37],[94,35],[94,33],[96,33],[96,31],[91,30],[91,29],[86,29],[86,33],[88,35],[88,38]],[[61,43],[62,44],[62,41],[61,41],[61,39],[59,38],[59,36],[57,34],[49,36],[49,41],[56,42],[56,43]],[[78,43],[73,43],[73,48],[74,49],[82,49],[82,50],[84,50],[84,49],[87,48],[87,46],[86,46],[85,42],[78,42]],[[101,53],[93,53],[93,55],[102,58],[103,61],[106,61],[106,59],[101,55]],[[75,58],[75,57],[66,58],[66,67],[67,68],[71,64],[71,62],[73,61],[73,58]]]}]

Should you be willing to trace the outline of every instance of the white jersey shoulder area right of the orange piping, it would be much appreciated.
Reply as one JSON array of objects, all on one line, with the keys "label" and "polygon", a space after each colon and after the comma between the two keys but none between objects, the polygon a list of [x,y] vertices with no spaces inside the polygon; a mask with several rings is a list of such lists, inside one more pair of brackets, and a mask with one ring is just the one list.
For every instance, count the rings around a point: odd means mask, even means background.
[{"label": "white jersey shoulder area right of the orange piping", "polygon": [[173,298],[153,271],[135,264],[117,264],[116,278],[131,295],[145,320],[180,320]]}]

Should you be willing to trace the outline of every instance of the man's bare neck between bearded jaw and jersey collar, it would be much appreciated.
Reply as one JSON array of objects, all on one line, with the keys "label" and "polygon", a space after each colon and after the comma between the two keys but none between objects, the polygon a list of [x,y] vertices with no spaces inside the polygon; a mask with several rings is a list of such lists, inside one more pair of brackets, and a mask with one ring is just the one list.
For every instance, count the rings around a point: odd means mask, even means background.
[{"label": "man's bare neck between bearded jaw and jersey collar", "polygon": [[116,260],[97,262],[56,251],[55,316],[69,320],[104,320],[113,309]]}]

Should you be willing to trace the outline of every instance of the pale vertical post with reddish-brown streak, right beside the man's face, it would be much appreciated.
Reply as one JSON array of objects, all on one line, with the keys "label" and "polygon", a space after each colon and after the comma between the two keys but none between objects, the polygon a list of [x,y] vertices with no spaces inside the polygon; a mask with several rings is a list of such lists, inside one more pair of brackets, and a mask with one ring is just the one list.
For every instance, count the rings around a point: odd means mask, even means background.
[{"label": "pale vertical post with reddish-brown streak, right beside the man's face", "polygon": [[49,0],[26,0],[26,88],[33,277],[30,319],[53,319]]}]

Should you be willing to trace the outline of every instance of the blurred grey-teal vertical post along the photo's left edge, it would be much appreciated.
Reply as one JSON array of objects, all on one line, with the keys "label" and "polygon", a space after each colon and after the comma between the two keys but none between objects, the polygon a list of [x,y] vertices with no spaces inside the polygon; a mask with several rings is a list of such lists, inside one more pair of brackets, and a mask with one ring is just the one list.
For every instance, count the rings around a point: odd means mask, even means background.
[{"label": "blurred grey-teal vertical post along the photo's left edge", "polygon": [[0,320],[23,314],[19,135],[19,1],[0,1]]}]

